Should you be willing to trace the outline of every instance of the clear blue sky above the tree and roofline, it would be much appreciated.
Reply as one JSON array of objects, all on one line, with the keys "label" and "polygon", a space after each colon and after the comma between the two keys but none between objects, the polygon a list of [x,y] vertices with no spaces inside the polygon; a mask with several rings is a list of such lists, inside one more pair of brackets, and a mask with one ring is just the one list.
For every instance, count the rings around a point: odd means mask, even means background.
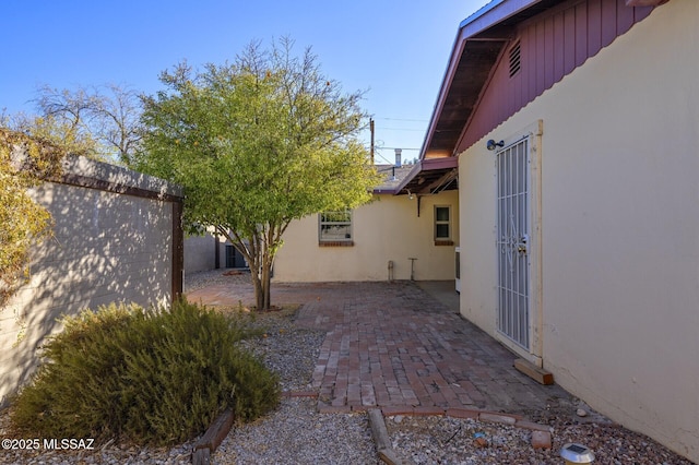
[{"label": "clear blue sky above the tree and roofline", "polygon": [[[486,0],[3,0],[0,110],[32,112],[40,85],[116,83],[153,94],[187,60],[224,63],[289,36],[347,92],[368,91],[377,163],[418,155],[459,23]],[[368,131],[364,134],[369,141]]]}]

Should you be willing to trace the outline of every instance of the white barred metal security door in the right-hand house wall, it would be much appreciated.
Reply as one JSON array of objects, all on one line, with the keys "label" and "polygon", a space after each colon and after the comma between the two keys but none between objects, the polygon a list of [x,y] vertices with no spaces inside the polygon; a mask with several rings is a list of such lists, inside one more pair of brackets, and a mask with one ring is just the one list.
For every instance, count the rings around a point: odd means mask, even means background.
[{"label": "white barred metal security door in the right-hand house wall", "polygon": [[498,331],[530,349],[530,139],[496,153]]}]

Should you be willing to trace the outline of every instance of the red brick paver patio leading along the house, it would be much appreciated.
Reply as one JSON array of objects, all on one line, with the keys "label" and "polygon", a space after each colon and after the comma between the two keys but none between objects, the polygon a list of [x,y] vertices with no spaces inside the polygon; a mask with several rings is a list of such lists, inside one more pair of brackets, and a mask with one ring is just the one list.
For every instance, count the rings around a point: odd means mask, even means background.
[{"label": "red brick paver patio leading along the house", "polygon": [[[571,412],[570,394],[517,371],[510,351],[415,283],[277,284],[272,296],[303,303],[298,325],[328,332],[312,378],[323,410]],[[209,305],[253,300],[240,285],[188,297]]]}]

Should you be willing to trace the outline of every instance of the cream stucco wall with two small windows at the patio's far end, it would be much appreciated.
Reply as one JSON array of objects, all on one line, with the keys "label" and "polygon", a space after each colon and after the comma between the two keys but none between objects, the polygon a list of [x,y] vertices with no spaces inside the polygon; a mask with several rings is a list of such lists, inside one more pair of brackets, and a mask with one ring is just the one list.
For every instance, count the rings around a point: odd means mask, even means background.
[{"label": "cream stucco wall with two small windows at the patio's far end", "polygon": [[452,237],[458,243],[458,193],[442,192],[420,198],[378,195],[354,211],[354,247],[319,247],[318,215],[292,223],[274,264],[277,282],[386,281],[393,261],[395,279],[411,278],[416,258],[418,281],[453,279],[454,246],[435,246],[435,205],[451,205]]}]

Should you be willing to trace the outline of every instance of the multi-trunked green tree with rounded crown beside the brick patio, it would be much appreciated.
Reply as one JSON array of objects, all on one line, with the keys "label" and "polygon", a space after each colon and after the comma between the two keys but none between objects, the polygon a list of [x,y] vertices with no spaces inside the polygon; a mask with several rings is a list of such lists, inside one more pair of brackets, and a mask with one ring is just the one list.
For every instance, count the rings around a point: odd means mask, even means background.
[{"label": "multi-trunked green tree with rounded crown beside the brick patio", "polygon": [[366,203],[379,181],[357,139],[363,93],[343,93],[317,61],[287,38],[252,43],[230,64],[163,73],[167,91],[144,100],[138,168],[185,186],[186,222],[246,258],[259,310],[289,223]]}]

